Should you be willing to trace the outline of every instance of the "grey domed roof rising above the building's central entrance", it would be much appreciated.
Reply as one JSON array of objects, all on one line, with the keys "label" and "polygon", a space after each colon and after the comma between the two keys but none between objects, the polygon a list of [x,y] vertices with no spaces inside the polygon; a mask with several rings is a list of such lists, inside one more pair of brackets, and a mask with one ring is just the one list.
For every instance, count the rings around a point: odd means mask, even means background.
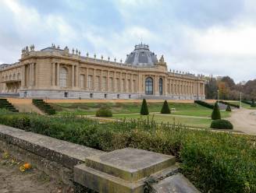
[{"label": "grey domed roof rising above the building's central entrance", "polygon": [[149,50],[146,44],[135,45],[134,51],[127,54],[125,63],[137,66],[154,66],[158,62],[158,58],[154,52]]}]

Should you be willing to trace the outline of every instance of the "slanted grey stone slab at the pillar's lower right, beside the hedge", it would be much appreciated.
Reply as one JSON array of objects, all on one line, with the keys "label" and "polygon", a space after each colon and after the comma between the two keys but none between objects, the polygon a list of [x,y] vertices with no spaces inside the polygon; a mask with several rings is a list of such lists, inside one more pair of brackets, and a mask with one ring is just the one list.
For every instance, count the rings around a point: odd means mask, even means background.
[{"label": "slanted grey stone slab at the pillar's lower right, beside the hedge", "polygon": [[157,193],[199,193],[190,181],[182,174],[172,175],[152,185]]}]

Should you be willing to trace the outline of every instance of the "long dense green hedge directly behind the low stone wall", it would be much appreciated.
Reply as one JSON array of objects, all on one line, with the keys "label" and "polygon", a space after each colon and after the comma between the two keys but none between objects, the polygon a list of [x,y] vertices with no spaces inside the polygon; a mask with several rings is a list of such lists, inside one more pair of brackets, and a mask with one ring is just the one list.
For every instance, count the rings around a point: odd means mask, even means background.
[{"label": "long dense green hedge directly behind the low stone wall", "polygon": [[0,113],[0,124],[112,151],[125,147],[172,154],[202,192],[256,192],[256,147],[244,135],[196,131],[154,120],[99,124],[76,117]]}]

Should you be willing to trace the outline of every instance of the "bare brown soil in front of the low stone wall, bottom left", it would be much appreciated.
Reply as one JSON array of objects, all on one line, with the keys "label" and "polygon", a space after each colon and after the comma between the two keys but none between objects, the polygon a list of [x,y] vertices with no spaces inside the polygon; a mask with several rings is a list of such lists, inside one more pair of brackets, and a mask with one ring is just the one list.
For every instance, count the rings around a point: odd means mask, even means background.
[{"label": "bare brown soil in front of the low stone wall, bottom left", "polygon": [[19,193],[71,193],[73,188],[55,181],[37,168],[31,168],[25,172],[20,171],[22,161],[14,160],[11,157],[0,157],[0,192]]}]

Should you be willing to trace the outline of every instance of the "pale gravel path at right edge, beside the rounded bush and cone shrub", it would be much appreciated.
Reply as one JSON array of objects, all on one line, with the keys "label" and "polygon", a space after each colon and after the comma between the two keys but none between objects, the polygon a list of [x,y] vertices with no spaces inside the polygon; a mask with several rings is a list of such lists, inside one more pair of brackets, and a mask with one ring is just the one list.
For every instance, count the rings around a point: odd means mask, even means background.
[{"label": "pale gravel path at right edge, beside the rounded bush and cone shrub", "polygon": [[249,135],[256,135],[256,110],[240,109],[233,111],[230,118],[235,131],[244,132]]}]

